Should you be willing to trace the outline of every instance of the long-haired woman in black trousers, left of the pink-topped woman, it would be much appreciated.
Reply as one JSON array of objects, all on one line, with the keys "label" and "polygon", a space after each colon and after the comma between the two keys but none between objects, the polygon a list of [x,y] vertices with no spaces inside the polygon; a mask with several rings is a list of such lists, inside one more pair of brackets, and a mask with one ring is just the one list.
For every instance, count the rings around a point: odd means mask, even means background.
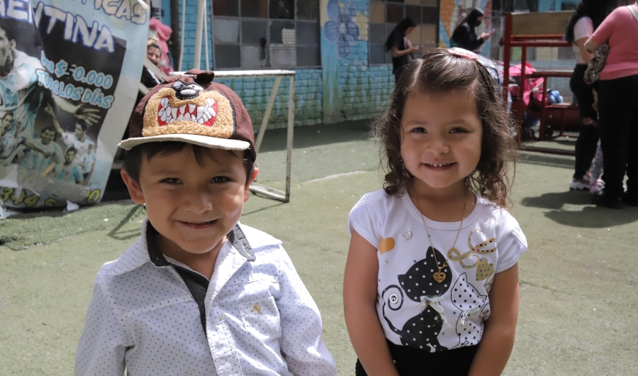
[{"label": "long-haired woman in black trousers, left of the pink-topped woman", "polygon": [[[571,44],[576,55],[569,88],[578,100],[581,117],[580,133],[576,140],[576,165],[569,189],[589,190],[591,187],[589,169],[598,145],[598,112],[593,109],[593,87],[583,81],[591,53],[585,49],[585,42],[610,13],[608,1],[582,0],[573,12],[565,30],[565,40]],[[600,187],[595,182],[594,187]]]}]

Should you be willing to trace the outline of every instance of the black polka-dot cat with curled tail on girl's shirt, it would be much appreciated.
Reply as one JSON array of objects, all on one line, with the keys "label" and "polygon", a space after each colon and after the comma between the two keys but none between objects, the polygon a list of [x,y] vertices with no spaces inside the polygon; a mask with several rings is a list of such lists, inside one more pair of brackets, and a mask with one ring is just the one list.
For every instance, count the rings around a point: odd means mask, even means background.
[{"label": "black polka-dot cat with curled tail on girl's shirt", "polygon": [[[386,304],[389,309],[398,311],[403,306],[404,293],[408,299],[421,303],[421,297],[442,297],[447,292],[453,280],[452,269],[447,266],[443,267],[441,271],[445,273],[444,280],[441,283],[435,281],[432,274],[439,271],[439,268],[435,266],[437,264],[435,253],[439,265],[443,265],[444,256],[436,248],[429,247],[425,252],[424,259],[416,261],[408,272],[398,276],[399,285],[391,284],[381,293],[381,299],[384,301],[384,319],[391,330],[401,337],[401,343],[430,351],[430,353],[447,350],[446,347],[440,345],[437,338],[439,333],[445,330],[440,314],[432,306],[422,306],[419,311],[415,310],[417,315],[409,319],[403,324],[403,328],[399,329],[386,316]],[[453,329],[448,328],[448,330]]]}]

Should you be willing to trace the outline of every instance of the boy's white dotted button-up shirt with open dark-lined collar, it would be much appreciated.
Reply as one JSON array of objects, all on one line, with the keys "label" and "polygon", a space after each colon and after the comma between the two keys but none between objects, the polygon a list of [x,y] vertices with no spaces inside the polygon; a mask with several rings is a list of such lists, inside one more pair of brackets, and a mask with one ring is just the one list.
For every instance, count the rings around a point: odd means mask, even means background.
[{"label": "boy's white dotted button-up shirt with open dark-lined collar", "polygon": [[198,306],[172,266],[157,267],[142,236],[94,283],[75,375],[337,375],[318,307],[281,241],[240,225],[256,260],[227,241]]}]

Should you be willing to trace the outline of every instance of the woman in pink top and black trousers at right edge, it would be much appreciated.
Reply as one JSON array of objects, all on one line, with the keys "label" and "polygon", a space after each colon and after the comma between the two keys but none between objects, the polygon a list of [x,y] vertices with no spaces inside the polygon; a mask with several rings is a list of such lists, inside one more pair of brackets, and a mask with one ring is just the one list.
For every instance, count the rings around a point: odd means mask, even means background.
[{"label": "woman in pink top and black trousers at right edge", "polygon": [[638,206],[638,5],[612,11],[585,48],[592,52],[605,40],[609,55],[596,84],[605,188],[593,203],[620,209],[622,201]]}]

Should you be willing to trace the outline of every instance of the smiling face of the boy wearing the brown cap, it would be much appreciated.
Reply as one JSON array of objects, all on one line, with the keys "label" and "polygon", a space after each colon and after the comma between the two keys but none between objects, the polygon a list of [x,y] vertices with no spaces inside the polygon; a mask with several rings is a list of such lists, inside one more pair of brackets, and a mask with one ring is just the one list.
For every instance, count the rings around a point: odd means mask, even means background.
[{"label": "smiling face of the boy wearing the brown cap", "polygon": [[187,146],[171,155],[142,157],[139,184],[123,175],[133,201],[146,204],[159,249],[178,260],[184,253],[219,250],[249,197],[242,151],[211,148],[202,159],[199,165]]}]

